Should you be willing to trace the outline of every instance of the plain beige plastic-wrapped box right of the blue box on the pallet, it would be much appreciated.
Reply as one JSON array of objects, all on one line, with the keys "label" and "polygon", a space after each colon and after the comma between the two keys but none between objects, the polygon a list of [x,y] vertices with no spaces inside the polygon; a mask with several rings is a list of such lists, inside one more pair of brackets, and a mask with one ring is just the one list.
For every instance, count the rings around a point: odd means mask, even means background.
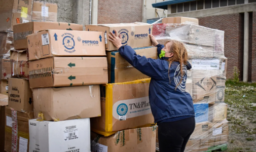
[{"label": "plain beige plastic-wrapped box right of the blue box on the pallet", "polygon": [[222,122],[227,119],[228,104],[218,103],[209,105],[209,121],[213,123]]}]

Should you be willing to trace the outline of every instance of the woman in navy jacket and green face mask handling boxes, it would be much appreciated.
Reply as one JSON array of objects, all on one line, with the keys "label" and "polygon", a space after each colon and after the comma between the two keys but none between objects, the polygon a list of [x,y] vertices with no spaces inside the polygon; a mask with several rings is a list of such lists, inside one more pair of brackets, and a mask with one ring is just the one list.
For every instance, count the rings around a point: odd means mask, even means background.
[{"label": "woman in navy jacket and green face mask handling boxes", "polygon": [[130,46],[122,46],[117,31],[108,35],[109,41],[119,48],[123,58],[151,77],[149,98],[155,122],[158,123],[160,152],[184,151],[195,129],[193,100],[185,92],[187,69],[191,69],[185,45],[178,41],[168,41],[163,46],[150,35],[160,59],[147,59],[137,55]]}]

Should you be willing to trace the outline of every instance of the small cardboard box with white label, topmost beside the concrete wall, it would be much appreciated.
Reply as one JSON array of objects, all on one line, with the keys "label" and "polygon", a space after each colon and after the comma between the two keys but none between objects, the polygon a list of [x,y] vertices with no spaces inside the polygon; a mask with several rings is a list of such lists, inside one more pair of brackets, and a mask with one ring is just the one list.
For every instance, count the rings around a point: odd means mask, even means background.
[{"label": "small cardboard box with white label, topmost beside the concrete wall", "polygon": [[57,22],[57,4],[34,1],[32,22]]}]

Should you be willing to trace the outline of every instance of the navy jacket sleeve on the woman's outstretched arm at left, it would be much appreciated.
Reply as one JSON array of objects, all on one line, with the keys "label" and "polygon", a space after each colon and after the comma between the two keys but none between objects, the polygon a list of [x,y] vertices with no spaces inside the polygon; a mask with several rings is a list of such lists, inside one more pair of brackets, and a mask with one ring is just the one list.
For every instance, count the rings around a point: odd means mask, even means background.
[{"label": "navy jacket sleeve on the woman's outstretched arm at left", "polygon": [[120,47],[119,52],[123,58],[143,74],[154,79],[161,79],[163,77],[165,67],[162,60],[137,55],[130,46]]}]

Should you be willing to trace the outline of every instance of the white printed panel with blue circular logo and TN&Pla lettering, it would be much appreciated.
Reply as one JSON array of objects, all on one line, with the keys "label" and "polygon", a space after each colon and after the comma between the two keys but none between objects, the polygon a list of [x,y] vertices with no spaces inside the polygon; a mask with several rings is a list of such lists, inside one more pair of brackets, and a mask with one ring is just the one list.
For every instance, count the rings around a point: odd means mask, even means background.
[{"label": "white printed panel with blue circular logo and TN&Pla lettering", "polygon": [[[149,97],[120,100],[113,105],[113,117],[126,120],[151,113]],[[120,117],[121,116],[121,117]]]}]

